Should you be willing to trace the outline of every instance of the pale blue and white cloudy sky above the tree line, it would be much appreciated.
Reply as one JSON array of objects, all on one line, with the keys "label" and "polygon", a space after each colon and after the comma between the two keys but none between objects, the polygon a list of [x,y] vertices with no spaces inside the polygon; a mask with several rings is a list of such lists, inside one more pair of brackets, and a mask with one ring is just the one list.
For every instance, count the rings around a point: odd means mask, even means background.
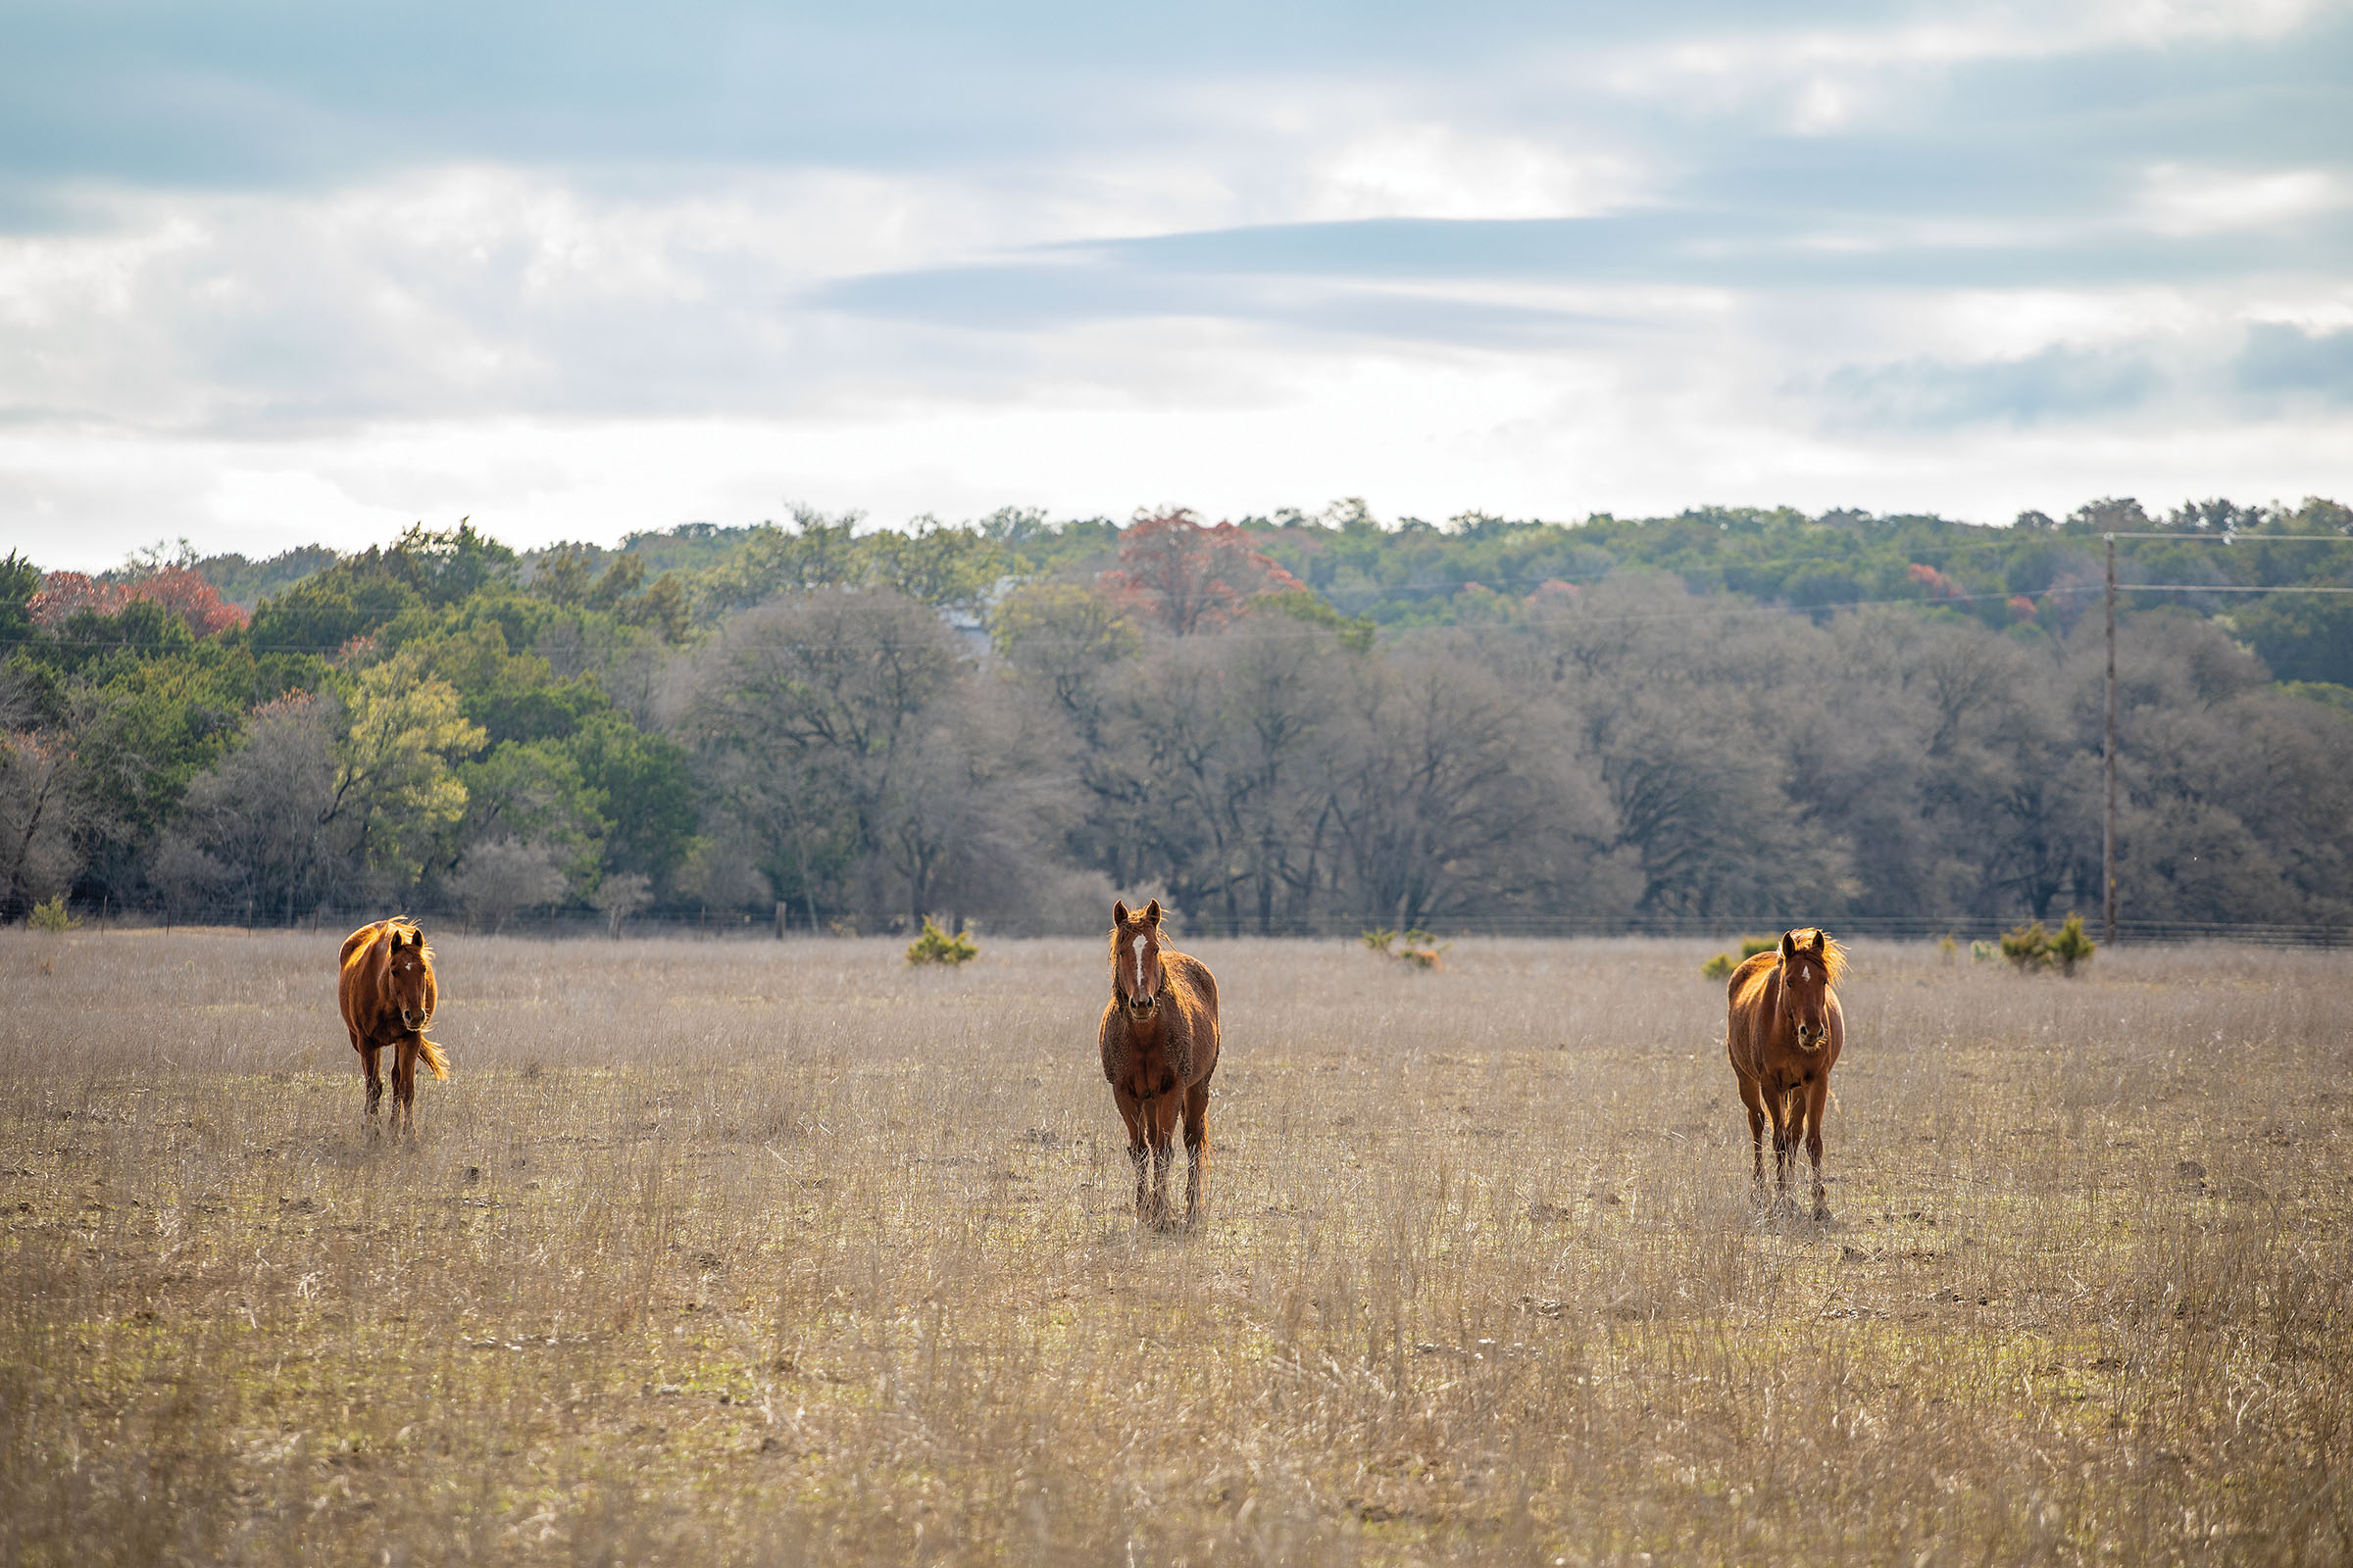
[{"label": "pale blue and white cloudy sky above the tree line", "polygon": [[0,0],[0,548],[2353,501],[2353,2]]}]

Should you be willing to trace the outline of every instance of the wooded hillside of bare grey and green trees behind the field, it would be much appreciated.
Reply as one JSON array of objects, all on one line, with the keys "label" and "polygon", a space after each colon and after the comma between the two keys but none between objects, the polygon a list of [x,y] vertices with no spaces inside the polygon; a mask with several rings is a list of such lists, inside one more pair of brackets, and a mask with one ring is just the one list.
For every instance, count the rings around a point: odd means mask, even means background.
[{"label": "wooded hillside of bare grey and green trees behind the field", "polygon": [[2334,501],[856,524],[9,557],[0,919],[2092,912],[2108,531],[2127,917],[2353,917]]}]

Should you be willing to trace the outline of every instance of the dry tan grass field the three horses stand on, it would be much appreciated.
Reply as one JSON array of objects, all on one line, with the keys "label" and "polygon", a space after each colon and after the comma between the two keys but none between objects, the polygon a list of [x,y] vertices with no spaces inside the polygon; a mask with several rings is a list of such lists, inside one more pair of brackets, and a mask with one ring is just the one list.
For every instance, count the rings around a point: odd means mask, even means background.
[{"label": "dry tan grass field the three horses stand on", "polygon": [[1188,943],[1139,1232],[1094,943],[0,933],[9,1563],[2353,1559],[2353,959],[1857,947],[1817,1227],[1713,945]]}]

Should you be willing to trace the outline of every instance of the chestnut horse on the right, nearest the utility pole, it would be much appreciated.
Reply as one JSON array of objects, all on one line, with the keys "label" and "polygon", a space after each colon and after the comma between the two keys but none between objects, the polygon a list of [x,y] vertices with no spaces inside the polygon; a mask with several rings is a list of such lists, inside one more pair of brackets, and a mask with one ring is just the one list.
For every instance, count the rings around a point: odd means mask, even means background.
[{"label": "chestnut horse on the right, nearest the utility pole", "polygon": [[1788,1197],[1788,1161],[1802,1135],[1814,1161],[1817,1220],[1831,1218],[1821,1192],[1821,1107],[1831,1095],[1831,1067],[1847,1044],[1847,1018],[1831,990],[1845,973],[1847,950],[1828,931],[1800,926],[1781,933],[1779,950],[1734,969],[1727,987],[1725,1056],[1748,1107],[1758,1192],[1765,1190],[1765,1114],[1772,1112],[1779,1197]]}]

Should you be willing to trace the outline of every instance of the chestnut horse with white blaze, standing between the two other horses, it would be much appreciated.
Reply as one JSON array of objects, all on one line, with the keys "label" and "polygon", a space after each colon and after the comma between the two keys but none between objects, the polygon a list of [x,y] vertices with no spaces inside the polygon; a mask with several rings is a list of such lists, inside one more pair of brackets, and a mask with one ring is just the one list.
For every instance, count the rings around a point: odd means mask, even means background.
[{"label": "chestnut horse with white blaze, standing between the two other horses", "polygon": [[[1160,940],[1160,900],[1129,914],[1111,905],[1111,1004],[1096,1030],[1104,1079],[1127,1124],[1136,1166],[1136,1220],[1169,1222],[1169,1159],[1184,1112],[1184,1218],[1200,1218],[1200,1171],[1209,1157],[1209,1074],[1217,1072],[1217,978]],[[1151,1182],[1144,1180],[1151,1150]]]}]

